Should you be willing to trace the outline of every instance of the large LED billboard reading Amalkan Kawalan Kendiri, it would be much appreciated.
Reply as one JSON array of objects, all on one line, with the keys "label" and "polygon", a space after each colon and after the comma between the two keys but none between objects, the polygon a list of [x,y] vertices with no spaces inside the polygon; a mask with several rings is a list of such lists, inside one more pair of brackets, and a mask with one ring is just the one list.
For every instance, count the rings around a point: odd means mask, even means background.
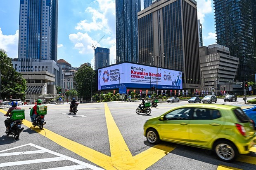
[{"label": "large LED billboard reading Amalkan Kawalan Kendiri", "polygon": [[121,63],[98,69],[98,90],[127,88],[182,89],[181,71],[135,63]]}]

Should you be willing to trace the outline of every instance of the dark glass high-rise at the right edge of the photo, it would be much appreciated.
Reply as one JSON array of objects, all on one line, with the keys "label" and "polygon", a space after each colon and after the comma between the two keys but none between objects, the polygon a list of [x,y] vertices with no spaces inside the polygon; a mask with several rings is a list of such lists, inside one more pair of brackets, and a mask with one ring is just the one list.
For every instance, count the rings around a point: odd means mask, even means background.
[{"label": "dark glass high-rise at the right edge of the photo", "polygon": [[231,56],[239,58],[236,80],[242,82],[254,79],[253,75],[256,71],[253,25],[255,0],[214,0],[213,2],[217,42],[228,47]]}]

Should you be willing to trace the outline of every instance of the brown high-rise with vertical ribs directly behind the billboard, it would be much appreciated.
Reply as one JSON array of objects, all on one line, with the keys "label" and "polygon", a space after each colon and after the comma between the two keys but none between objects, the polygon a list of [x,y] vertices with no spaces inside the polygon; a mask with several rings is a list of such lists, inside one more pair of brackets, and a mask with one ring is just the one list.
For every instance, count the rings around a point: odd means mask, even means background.
[{"label": "brown high-rise with vertical ribs directly behind the billboard", "polygon": [[199,90],[197,2],[160,0],[139,12],[138,22],[139,63],[180,70],[183,89]]}]

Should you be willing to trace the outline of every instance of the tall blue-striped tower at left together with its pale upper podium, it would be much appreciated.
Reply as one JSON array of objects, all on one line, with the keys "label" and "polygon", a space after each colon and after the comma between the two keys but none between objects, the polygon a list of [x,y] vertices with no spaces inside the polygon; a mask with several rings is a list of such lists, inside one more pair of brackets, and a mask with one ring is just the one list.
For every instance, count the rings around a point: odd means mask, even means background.
[{"label": "tall blue-striped tower at left together with its pale upper podium", "polygon": [[16,71],[47,71],[59,85],[57,25],[58,0],[20,0],[18,59],[12,61]]}]

